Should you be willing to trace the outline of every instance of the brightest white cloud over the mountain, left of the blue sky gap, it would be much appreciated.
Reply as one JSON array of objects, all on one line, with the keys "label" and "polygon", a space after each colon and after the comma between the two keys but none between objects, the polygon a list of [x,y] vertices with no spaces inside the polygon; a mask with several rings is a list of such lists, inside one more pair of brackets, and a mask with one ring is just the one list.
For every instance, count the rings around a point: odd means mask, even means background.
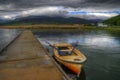
[{"label": "brightest white cloud over the mountain, left of the blue sky gap", "polygon": [[37,7],[29,10],[25,10],[21,12],[22,16],[30,16],[30,15],[60,15],[61,6],[44,6],[44,7]]}]

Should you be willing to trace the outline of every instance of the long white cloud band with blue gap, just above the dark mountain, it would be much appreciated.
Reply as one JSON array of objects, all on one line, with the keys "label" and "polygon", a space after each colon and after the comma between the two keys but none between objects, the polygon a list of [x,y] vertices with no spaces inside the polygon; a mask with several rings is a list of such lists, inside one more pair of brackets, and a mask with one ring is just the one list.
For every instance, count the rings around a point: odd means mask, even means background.
[{"label": "long white cloud band with blue gap, just above the dark mountain", "polygon": [[[79,14],[70,14],[71,11],[77,11]],[[118,13],[101,13],[110,12],[111,10],[96,10],[96,9],[83,9],[83,8],[71,8],[64,6],[43,6],[23,10],[19,12],[11,12],[9,14],[2,15],[3,19],[14,20],[20,17],[28,16],[62,16],[62,17],[77,17],[83,19],[107,19],[118,15]]]}]

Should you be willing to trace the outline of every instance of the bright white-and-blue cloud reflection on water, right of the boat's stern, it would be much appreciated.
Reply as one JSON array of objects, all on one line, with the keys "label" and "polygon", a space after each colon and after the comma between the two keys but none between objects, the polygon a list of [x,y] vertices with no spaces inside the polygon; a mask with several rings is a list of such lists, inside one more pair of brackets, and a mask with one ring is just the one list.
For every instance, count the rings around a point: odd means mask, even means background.
[{"label": "bright white-and-blue cloud reflection on water, right of the boat's stern", "polygon": [[[107,47],[107,46],[119,46],[119,41],[110,36],[74,36],[72,38],[68,38],[69,43],[74,43],[78,41],[80,45],[96,45],[99,47]],[[111,47],[113,47],[111,46]]]}]

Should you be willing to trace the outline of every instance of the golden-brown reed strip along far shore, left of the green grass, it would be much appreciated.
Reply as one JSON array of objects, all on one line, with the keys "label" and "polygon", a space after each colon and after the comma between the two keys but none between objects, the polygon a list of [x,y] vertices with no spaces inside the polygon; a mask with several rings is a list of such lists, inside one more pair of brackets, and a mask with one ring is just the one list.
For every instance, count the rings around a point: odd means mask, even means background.
[{"label": "golden-brown reed strip along far shore, left of the green grass", "polygon": [[12,25],[12,26],[0,26],[5,29],[79,29],[83,25],[56,25],[56,24],[36,24],[36,25]]}]

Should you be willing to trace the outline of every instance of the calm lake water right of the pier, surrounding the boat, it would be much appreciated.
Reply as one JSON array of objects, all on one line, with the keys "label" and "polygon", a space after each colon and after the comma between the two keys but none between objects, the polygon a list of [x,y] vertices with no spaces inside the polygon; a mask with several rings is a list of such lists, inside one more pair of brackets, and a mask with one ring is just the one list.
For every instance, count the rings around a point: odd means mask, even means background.
[{"label": "calm lake water right of the pier, surrounding the boat", "polygon": [[77,48],[87,57],[84,80],[120,80],[120,36],[105,31],[38,31],[35,34],[44,46],[47,46],[46,40],[51,44],[78,42]]}]

